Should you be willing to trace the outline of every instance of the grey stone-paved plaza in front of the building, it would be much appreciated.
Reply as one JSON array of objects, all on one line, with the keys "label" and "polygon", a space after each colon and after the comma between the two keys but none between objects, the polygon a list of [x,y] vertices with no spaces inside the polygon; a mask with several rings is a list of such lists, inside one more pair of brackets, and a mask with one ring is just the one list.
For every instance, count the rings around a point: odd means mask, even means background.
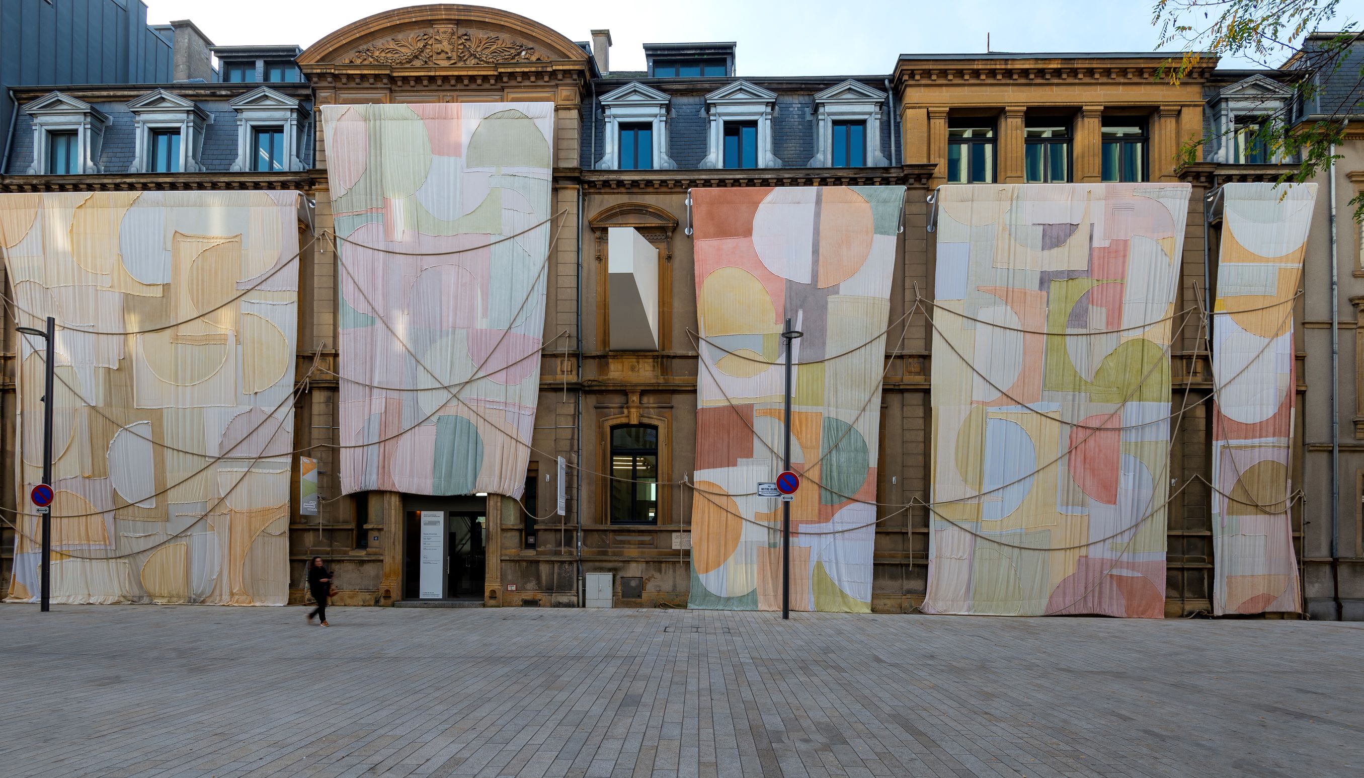
[{"label": "grey stone-paved plaza in front of the building", "polygon": [[0,606],[0,774],[1360,775],[1364,624]]}]

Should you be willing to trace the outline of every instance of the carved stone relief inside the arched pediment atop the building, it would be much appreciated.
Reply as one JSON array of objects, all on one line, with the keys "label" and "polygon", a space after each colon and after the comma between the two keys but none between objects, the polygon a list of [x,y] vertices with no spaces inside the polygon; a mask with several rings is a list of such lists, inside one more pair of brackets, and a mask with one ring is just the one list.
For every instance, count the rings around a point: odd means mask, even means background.
[{"label": "carved stone relief inside the arched pediment atop the building", "polygon": [[341,57],[342,64],[451,67],[548,61],[535,46],[502,33],[436,25],[387,35]]}]

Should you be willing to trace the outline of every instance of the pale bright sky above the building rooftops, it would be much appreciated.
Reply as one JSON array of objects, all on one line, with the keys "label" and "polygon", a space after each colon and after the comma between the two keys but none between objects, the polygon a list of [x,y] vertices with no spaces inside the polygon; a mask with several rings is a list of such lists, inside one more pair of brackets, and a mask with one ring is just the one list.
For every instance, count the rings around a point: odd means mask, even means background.
[{"label": "pale bright sky above the building rooftops", "polygon": [[[217,45],[297,44],[412,0],[143,0],[147,20],[191,19]],[[1361,0],[1338,22],[1364,15]],[[611,70],[644,70],[642,44],[735,41],[741,76],[872,75],[900,53],[1150,52],[1147,0],[491,0],[573,41],[611,30]],[[325,12],[319,12],[323,8]],[[267,20],[267,23],[262,23]],[[1285,57],[1286,59],[1286,53]],[[1222,67],[1256,67],[1224,61]]]}]

